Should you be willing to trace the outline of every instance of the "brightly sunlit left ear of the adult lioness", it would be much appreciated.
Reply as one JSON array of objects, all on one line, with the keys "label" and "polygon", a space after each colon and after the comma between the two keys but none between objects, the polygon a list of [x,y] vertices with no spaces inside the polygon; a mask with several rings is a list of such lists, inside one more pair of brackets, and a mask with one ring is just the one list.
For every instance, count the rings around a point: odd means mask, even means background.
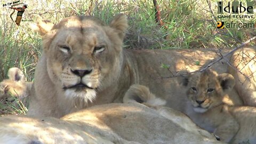
[{"label": "brightly sunlit left ear of the adult lioness", "polygon": [[41,36],[47,34],[54,24],[49,20],[42,20],[41,17],[38,17],[36,23],[31,23],[30,28],[34,31],[37,31]]}]

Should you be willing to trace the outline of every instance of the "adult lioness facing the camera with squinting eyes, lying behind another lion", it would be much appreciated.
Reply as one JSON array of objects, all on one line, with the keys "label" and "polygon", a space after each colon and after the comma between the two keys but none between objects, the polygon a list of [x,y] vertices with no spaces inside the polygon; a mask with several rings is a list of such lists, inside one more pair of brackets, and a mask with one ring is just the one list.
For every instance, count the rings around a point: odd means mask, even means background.
[{"label": "adult lioness facing the camera with squinting eyes, lying behind another lion", "polygon": [[[166,100],[167,107],[183,110],[179,101],[185,92],[180,91],[177,71],[198,70],[218,55],[210,50],[123,50],[127,27],[122,14],[109,25],[88,16],[65,18],[56,25],[39,20],[33,29],[43,38],[43,53],[28,114],[61,117],[93,105],[122,102],[132,84],[146,85]],[[219,73],[228,68],[225,61],[213,67]],[[235,105],[239,95],[234,91],[232,96]]]}]

